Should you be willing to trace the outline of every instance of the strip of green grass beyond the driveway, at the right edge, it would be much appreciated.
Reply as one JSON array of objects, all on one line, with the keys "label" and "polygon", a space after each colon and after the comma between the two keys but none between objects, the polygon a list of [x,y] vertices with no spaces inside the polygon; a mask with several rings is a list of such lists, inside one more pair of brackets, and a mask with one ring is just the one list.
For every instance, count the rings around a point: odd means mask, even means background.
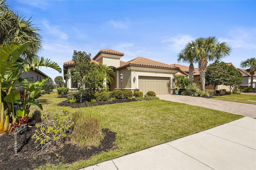
[{"label": "strip of green grass beyond the driveway, at the right edge", "polygon": [[231,95],[224,95],[224,96],[214,96],[211,99],[234,101],[234,102],[249,103],[249,104],[256,105],[256,95],[247,95],[247,94],[234,95],[234,94],[231,94]]}]

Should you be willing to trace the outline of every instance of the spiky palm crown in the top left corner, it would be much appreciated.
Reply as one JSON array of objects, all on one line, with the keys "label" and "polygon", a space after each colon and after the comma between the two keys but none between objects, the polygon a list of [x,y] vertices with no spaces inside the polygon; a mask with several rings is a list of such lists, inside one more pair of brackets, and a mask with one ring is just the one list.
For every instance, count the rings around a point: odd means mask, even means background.
[{"label": "spiky palm crown in the top left corner", "polygon": [[34,27],[32,18],[28,20],[18,16],[10,9],[6,0],[0,0],[0,45],[4,42],[24,43],[30,41],[30,46],[22,53],[22,59],[32,60],[42,49],[42,36]]}]

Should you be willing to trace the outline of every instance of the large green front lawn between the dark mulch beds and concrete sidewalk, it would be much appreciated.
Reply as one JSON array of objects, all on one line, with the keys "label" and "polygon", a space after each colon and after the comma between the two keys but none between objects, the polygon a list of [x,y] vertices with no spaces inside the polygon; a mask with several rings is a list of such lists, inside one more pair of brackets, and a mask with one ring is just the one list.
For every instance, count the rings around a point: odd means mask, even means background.
[{"label": "large green front lawn between the dark mulch beds and concrete sidewalk", "polygon": [[[63,99],[56,99],[54,93],[50,95],[51,97],[43,96],[39,98],[48,103],[47,106],[43,104],[43,107],[46,108],[44,111],[60,108],[56,106],[56,103],[58,103],[57,100],[62,101]],[[86,161],[58,166],[47,165],[42,169],[80,169],[242,117],[222,111],[163,100],[134,101],[72,110],[83,110],[86,114],[97,115],[102,128],[109,128],[117,133],[116,145],[118,149],[92,156]]]}]

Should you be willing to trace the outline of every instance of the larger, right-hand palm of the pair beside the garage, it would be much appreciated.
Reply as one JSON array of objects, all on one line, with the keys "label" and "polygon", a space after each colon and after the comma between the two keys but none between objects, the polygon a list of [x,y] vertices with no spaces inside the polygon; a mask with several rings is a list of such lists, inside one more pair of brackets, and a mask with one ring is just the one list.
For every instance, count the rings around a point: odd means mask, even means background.
[{"label": "larger, right-hand palm of the pair beside the garage", "polygon": [[230,55],[231,47],[226,42],[218,42],[215,37],[198,38],[188,46],[195,52],[202,91],[205,91],[205,73],[208,61],[218,61],[222,57]]}]

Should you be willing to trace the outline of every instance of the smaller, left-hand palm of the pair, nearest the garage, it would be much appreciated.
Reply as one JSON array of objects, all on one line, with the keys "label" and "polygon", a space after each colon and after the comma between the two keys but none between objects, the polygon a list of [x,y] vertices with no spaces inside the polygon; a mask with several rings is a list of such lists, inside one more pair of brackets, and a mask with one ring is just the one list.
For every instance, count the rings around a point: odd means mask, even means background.
[{"label": "smaller, left-hand palm of the pair, nearest the garage", "polygon": [[193,83],[194,81],[194,62],[196,61],[196,56],[194,54],[194,49],[190,48],[190,46],[192,46],[192,44],[190,44],[190,42],[185,46],[184,49],[182,49],[182,51],[178,54],[178,59],[177,61],[183,62],[183,63],[190,63],[189,65],[189,81],[190,84]]}]

